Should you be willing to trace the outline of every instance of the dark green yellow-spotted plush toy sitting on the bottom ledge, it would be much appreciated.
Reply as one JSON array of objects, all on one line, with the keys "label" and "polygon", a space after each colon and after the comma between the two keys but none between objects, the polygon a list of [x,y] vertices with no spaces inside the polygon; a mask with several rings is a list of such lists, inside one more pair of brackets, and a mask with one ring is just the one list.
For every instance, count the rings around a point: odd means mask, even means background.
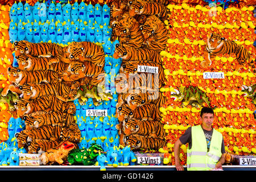
[{"label": "dark green yellow-spotted plush toy sitting on the bottom ledge", "polygon": [[89,148],[76,148],[71,150],[67,160],[69,165],[83,164],[84,166],[90,166],[97,162],[97,156],[103,152],[104,150],[99,144],[92,144]]}]

